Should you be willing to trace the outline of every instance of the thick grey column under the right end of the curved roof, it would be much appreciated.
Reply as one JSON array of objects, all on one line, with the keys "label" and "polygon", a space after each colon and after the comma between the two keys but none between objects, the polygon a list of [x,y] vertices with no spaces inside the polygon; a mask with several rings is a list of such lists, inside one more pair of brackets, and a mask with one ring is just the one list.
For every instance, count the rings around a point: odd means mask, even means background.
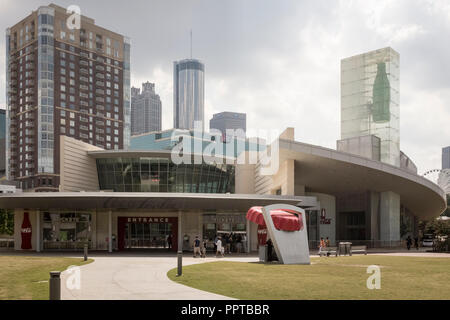
[{"label": "thick grey column under the right end of the curved roof", "polygon": [[400,241],[400,195],[380,194],[380,240]]}]

